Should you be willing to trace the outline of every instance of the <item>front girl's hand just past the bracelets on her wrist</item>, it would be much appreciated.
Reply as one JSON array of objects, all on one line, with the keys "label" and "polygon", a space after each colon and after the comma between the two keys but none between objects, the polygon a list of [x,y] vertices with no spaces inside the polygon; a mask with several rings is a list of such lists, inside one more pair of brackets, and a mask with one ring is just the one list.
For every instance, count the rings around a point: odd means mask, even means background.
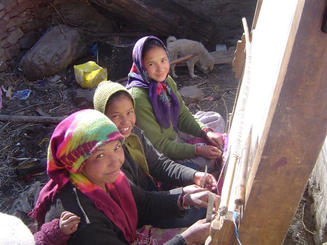
[{"label": "front girl's hand just past the bracelets on her wrist", "polygon": [[212,193],[211,191],[201,191],[192,194],[184,195],[184,205],[193,205],[199,208],[206,208],[208,206],[209,195],[214,197],[214,209],[215,212],[218,210],[220,204],[220,196]]}]

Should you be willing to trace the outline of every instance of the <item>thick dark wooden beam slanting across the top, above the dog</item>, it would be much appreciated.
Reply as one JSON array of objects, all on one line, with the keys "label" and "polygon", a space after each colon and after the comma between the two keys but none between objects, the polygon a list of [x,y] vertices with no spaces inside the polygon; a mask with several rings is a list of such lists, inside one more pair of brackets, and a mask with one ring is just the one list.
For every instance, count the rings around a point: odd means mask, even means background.
[{"label": "thick dark wooden beam slanting across the top, above the dog", "polygon": [[169,0],[91,0],[91,2],[166,36],[212,44],[214,23]]}]

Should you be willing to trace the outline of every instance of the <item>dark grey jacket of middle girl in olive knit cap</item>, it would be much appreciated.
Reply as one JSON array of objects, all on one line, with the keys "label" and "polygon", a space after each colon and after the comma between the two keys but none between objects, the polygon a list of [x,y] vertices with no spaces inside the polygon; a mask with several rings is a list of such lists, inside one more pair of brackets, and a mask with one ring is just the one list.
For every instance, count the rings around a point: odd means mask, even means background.
[{"label": "dark grey jacket of middle girl in olive knit cap", "polygon": [[[149,166],[150,175],[156,180],[171,185],[187,186],[193,184],[193,176],[196,170],[180,165],[168,157],[165,157],[154,149],[150,141],[145,137],[143,131],[134,126],[132,132],[136,134],[141,141],[145,158]],[[135,185],[147,190],[151,179],[147,177],[141,168],[129,154],[126,146],[123,146],[125,153],[125,161],[122,170],[126,177]],[[179,192],[180,190],[178,190]],[[177,193],[176,191],[173,193]]]}]

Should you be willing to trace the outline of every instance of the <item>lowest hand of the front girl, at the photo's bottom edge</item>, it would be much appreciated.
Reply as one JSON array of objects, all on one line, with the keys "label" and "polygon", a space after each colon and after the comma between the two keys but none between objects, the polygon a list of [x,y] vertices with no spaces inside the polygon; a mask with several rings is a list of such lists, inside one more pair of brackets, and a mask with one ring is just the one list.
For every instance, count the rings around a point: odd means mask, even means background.
[{"label": "lowest hand of the front girl, at the photo's bottom edge", "polygon": [[209,236],[209,230],[210,223],[205,223],[205,219],[200,219],[184,231],[181,236],[187,244],[204,244]]}]

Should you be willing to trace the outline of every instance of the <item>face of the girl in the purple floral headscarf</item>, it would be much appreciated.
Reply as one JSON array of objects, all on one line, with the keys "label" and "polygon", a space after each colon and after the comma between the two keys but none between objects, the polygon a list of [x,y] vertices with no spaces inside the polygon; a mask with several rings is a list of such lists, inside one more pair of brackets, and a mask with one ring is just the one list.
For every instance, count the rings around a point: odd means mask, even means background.
[{"label": "face of the girl in the purple floral headscarf", "polygon": [[162,82],[166,79],[170,64],[163,47],[151,47],[143,57],[143,64],[152,80]]}]

